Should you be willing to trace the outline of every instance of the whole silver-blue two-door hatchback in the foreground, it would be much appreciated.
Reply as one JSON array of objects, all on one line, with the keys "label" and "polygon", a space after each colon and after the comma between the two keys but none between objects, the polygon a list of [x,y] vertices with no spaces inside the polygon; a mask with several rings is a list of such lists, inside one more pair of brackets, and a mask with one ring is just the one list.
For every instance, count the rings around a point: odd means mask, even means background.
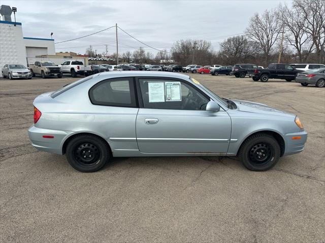
[{"label": "whole silver-blue two-door hatchback in the foreground", "polygon": [[78,171],[123,156],[236,156],[249,170],[272,168],[304,149],[299,118],[220,98],[184,74],[128,71],[82,78],[34,100],[29,139],[66,154]]}]

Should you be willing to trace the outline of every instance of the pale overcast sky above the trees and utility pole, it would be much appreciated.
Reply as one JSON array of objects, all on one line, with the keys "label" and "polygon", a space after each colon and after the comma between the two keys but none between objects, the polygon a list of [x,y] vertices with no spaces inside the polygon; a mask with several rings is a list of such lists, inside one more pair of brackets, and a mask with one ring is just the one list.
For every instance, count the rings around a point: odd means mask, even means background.
[{"label": "pale overcast sky above the trees and utility pole", "polygon": [[[129,34],[156,49],[169,50],[179,39],[206,39],[214,50],[226,36],[245,31],[253,13],[276,8],[291,1],[67,1],[2,0],[2,5],[17,7],[16,20],[22,22],[24,37],[50,38],[55,42],[87,35],[117,23]],[[13,19],[13,15],[12,15]],[[144,47],[118,30],[119,53]],[[98,53],[116,52],[115,28],[76,41],[56,44],[56,52],[84,54],[92,45]]]}]

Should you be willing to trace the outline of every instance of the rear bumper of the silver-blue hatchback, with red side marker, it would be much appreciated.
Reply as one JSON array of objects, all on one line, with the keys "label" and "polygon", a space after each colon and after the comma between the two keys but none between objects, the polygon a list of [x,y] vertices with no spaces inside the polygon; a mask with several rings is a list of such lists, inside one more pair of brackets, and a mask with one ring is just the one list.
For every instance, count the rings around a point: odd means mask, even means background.
[{"label": "rear bumper of the silver-blue hatchback, with red side marker", "polygon": [[[57,154],[62,154],[63,142],[72,133],[72,131],[36,128],[34,125],[28,129],[28,137],[32,146],[41,151]],[[53,138],[43,138],[44,135],[51,135]]]}]

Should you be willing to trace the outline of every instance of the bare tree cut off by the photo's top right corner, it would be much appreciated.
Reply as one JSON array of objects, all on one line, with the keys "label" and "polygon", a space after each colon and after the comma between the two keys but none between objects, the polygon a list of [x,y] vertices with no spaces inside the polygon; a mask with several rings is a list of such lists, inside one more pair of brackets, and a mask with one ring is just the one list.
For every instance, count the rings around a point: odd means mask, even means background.
[{"label": "bare tree cut off by the photo's top right corner", "polygon": [[317,61],[325,63],[325,1],[294,0],[293,6],[305,18],[305,31],[311,35]]}]

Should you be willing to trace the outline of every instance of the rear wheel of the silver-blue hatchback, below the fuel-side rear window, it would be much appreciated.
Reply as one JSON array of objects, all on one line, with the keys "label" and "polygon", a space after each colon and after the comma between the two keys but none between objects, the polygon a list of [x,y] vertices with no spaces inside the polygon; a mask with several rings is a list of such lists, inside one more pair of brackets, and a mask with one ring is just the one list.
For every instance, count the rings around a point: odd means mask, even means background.
[{"label": "rear wheel of the silver-blue hatchback, below the fuel-side rear window", "polygon": [[81,172],[98,171],[111,158],[110,148],[107,143],[93,135],[80,135],[72,138],[67,145],[66,151],[69,164]]}]

